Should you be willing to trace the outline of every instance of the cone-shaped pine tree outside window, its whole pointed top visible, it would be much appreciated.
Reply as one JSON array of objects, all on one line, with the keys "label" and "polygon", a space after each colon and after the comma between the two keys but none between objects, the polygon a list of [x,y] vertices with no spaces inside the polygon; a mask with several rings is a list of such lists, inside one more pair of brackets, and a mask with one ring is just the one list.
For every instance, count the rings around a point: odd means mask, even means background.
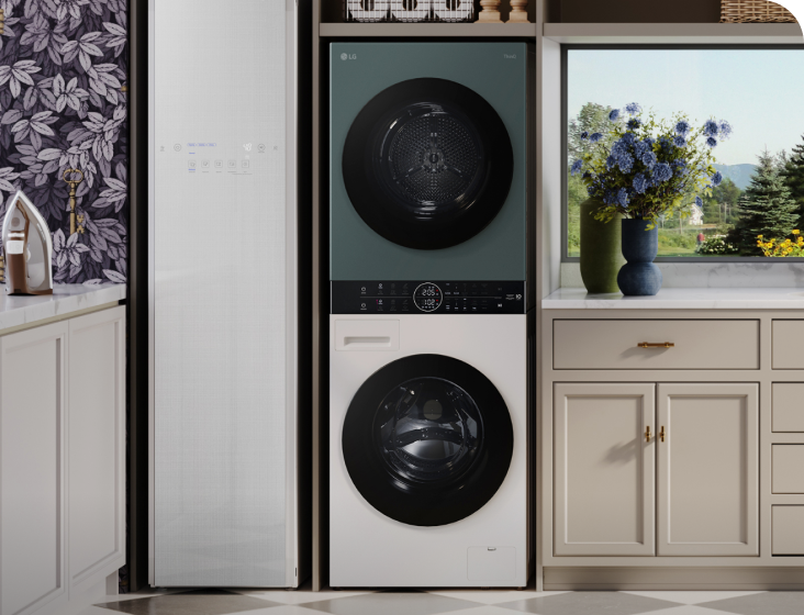
[{"label": "cone-shaped pine tree outside window, its whole pointed top visible", "polygon": [[728,238],[742,256],[762,256],[758,235],[781,241],[799,224],[799,204],[779,175],[775,157],[766,150],[758,158],[751,185],[737,204],[739,221]]}]

